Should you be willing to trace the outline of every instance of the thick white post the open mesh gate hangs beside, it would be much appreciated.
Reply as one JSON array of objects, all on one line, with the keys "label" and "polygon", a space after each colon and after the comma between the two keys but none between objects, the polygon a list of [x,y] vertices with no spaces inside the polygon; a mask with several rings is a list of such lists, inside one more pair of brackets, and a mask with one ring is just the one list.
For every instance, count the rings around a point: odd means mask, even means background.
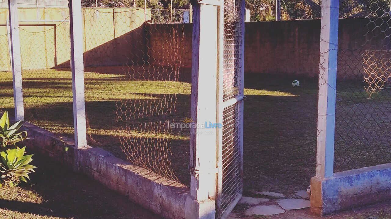
[{"label": "thick white post the open mesh gate hangs beside", "polygon": [[[219,1],[217,1],[219,2]],[[217,6],[193,5],[193,59],[190,129],[191,219],[215,218],[217,129]],[[197,124],[197,127],[194,127]]]}]

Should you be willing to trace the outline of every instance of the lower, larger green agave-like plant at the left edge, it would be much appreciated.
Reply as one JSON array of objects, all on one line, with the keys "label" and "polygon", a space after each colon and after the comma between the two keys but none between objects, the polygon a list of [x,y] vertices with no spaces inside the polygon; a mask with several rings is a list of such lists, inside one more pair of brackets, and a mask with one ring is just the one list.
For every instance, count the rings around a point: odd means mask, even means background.
[{"label": "lower, larger green agave-like plant at the left edge", "polygon": [[29,173],[35,172],[29,163],[32,161],[30,155],[25,154],[25,148],[12,148],[0,151],[0,186],[16,186],[22,182],[27,182]]}]

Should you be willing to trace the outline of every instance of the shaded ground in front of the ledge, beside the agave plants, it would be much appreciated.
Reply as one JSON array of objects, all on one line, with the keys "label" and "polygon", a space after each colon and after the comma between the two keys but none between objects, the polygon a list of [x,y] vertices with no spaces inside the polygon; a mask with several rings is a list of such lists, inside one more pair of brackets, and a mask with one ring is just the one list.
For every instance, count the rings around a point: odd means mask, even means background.
[{"label": "shaded ground in front of the ledge, beside the agave plants", "polygon": [[0,189],[1,219],[161,219],[86,177],[34,155],[36,173]]}]

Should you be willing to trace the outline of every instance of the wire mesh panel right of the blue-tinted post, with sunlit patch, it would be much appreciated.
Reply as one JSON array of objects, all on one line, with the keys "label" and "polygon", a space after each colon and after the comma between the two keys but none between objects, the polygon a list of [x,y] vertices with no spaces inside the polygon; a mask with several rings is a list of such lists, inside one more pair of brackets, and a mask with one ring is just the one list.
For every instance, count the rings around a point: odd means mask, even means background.
[{"label": "wire mesh panel right of the blue-tinted post, with sunlit patch", "polygon": [[335,172],[391,161],[390,5],[369,1],[366,11],[362,45],[338,50]]}]

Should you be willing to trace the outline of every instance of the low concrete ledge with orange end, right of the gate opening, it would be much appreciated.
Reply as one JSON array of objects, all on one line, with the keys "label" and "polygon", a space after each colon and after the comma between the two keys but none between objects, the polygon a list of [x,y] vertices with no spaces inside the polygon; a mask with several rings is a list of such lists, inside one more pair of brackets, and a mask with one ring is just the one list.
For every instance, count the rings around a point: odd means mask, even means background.
[{"label": "low concrete ledge with orange end, right of the gate opening", "polygon": [[311,178],[311,210],[325,215],[391,198],[391,164]]}]

